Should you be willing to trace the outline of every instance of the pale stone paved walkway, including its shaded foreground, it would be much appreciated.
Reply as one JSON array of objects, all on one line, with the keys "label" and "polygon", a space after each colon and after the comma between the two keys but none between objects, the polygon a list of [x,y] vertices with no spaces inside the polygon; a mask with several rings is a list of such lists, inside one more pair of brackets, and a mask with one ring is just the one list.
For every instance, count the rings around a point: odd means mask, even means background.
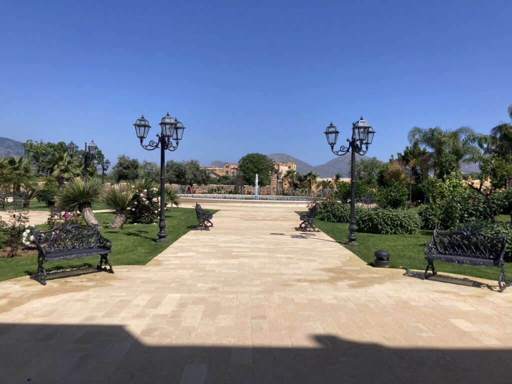
[{"label": "pale stone paved walkway, including its shaded foreground", "polygon": [[512,288],[372,268],[294,204],[202,205],[146,266],[0,283],[0,383],[512,380]]}]

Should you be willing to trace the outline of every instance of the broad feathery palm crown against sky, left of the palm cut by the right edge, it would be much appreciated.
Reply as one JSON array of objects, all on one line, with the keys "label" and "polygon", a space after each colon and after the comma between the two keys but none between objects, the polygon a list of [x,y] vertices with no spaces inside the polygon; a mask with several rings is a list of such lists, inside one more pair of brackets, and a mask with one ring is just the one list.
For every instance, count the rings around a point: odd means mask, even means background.
[{"label": "broad feathery palm crown against sky, left of the palm cut by the right edge", "polygon": [[459,165],[461,162],[476,161],[481,155],[478,145],[481,137],[482,135],[468,126],[461,126],[454,131],[442,130],[438,126],[427,129],[414,126],[408,135],[411,144],[417,142],[430,150],[429,168],[433,168],[434,172],[438,160],[445,154],[455,156]]}]

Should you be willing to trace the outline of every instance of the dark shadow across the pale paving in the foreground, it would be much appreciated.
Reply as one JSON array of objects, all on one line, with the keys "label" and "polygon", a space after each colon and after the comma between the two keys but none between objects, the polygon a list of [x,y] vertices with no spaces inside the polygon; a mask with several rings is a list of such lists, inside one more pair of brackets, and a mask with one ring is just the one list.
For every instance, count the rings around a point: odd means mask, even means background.
[{"label": "dark shadow across the pale paving in the foreground", "polygon": [[121,326],[0,324],[0,383],[510,380],[508,349],[388,348],[329,335],[310,338],[317,348],[166,347],[141,344]]}]

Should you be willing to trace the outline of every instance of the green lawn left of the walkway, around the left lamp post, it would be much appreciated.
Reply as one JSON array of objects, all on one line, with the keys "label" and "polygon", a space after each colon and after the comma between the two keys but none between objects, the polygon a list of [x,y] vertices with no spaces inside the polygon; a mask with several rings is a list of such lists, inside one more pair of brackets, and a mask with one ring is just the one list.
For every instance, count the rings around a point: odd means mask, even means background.
[{"label": "green lawn left of the walkway, around the left lamp post", "polygon": [[[32,207],[31,207],[32,208]],[[216,210],[210,210],[212,213]],[[127,224],[122,229],[110,229],[108,224],[114,218],[114,214],[96,214],[96,218],[103,228],[100,229],[103,236],[112,241],[112,252],[109,259],[116,265],[144,265],[169,245],[182,237],[190,229],[197,225],[196,211],[193,208],[174,208],[173,211],[165,211],[168,242],[157,243],[158,224]],[[38,229],[47,229],[46,225],[38,225]],[[17,278],[34,273],[37,268],[36,253],[27,257],[13,259],[0,258],[0,281]],[[78,267],[93,267],[99,262],[98,257],[92,256],[78,260],[59,260],[45,264],[47,271],[69,269]]]}]

